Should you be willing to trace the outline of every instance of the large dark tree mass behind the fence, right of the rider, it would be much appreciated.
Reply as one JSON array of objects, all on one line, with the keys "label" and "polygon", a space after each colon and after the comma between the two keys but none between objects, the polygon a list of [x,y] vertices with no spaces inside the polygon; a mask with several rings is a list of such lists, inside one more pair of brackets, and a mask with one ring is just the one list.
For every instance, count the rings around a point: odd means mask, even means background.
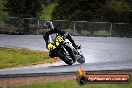
[{"label": "large dark tree mass behind the fence, right of the rider", "polygon": [[58,0],[52,19],[132,22],[132,0]]}]

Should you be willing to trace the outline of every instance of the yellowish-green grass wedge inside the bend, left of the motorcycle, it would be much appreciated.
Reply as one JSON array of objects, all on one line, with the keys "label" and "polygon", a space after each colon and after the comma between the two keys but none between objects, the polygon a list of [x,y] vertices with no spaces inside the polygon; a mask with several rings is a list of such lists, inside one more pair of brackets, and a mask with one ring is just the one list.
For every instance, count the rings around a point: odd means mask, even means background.
[{"label": "yellowish-green grass wedge inside the bend, left of the motorcycle", "polygon": [[48,63],[56,60],[48,57],[48,51],[0,47],[0,68]]}]

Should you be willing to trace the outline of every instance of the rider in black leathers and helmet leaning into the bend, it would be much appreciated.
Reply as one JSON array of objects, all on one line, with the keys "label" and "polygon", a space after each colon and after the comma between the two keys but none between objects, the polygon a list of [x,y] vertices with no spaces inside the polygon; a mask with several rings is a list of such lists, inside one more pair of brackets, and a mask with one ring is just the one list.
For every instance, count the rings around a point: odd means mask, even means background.
[{"label": "rider in black leathers and helmet leaning into the bend", "polygon": [[[71,37],[71,35],[69,33],[65,32],[65,31],[62,31],[62,30],[59,30],[57,28],[54,28],[54,25],[52,24],[51,21],[46,21],[45,22],[44,30],[43,31],[44,31],[43,38],[44,38],[44,40],[46,42],[46,48],[47,49],[48,49],[48,44],[49,44],[49,42],[48,42],[49,35],[50,34],[54,34],[54,33],[58,33],[60,35],[65,36],[72,43],[72,45],[73,45],[73,47],[75,49],[80,49],[80,46],[78,46],[78,45],[75,44],[75,42],[73,41],[73,39],[72,39],[72,37]],[[50,51],[49,52],[49,56],[51,58],[53,58],[54,57],[54,52]]]}]

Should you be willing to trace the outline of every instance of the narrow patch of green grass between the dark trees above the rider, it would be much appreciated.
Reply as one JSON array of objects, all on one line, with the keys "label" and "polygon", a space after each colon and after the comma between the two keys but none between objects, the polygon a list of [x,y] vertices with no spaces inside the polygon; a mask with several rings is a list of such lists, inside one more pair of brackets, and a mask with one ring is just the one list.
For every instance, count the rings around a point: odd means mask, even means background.
[{"label": "narrow patch of green grass between the dark trees above the rider", "polygon": [[55,2],[53,2],[50,5],[48,5],[47,7],[45,7],[41,14],[42,18],[51,20],[52,11],[56,5],[57,4]]}]

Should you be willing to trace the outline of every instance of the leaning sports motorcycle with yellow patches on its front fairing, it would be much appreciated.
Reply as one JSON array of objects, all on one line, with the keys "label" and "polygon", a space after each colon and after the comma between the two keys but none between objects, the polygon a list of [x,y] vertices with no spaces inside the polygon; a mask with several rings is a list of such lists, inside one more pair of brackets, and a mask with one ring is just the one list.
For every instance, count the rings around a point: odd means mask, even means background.
[{"label": "leaning sports motorcycle with yellow patches on its front fairing", "polygon": [[81,51],[75,49],[65,36],[57,33],[54,36],[49,35],[48,50],[56,52],[55,54],[68,65],[72,65],[76,61],[80,64],[85,62]]}]

